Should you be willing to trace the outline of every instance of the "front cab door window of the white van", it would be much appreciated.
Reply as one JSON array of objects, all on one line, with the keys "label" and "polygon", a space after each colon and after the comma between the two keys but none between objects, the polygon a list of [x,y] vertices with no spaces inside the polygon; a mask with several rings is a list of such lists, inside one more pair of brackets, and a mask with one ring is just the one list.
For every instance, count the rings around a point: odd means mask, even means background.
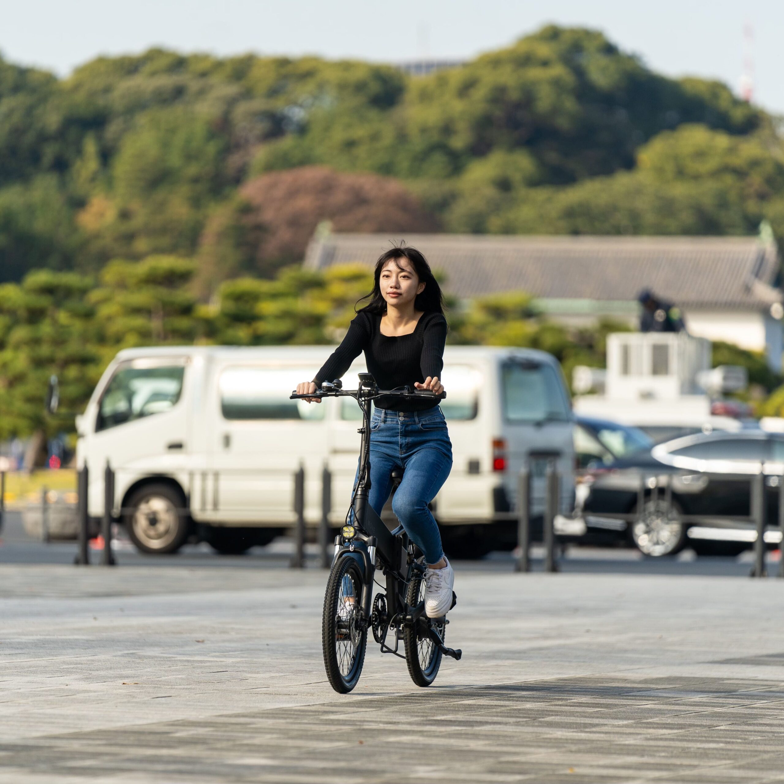
[{"label": "front cab door window of the white van", "polygon": [[180,400],[184,373],[183,365],[120,367],[103,390],[96,432],[169,411]]}]

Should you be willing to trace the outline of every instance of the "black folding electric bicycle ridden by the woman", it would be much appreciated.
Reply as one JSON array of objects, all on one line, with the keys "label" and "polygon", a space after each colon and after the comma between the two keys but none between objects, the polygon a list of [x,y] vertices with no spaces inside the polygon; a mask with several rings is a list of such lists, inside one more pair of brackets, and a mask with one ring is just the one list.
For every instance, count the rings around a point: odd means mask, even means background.
[{"label": "black folding electric bicycle ridden by the woman", "polygon": [[[368,503],[370,491],[371,403],[379,397],[408,399],[437,396],[427,390],[379,390],[369,373],[359,374],[359,388],[343,390],[340,381],[322,383],[314,394],[302,397],[354,397],[362,409],[360,460],[346,524],[335,538],[335,556],[329,572],[321,619],[321,645],[329,683],[346,694],[362,672],[368,627],[382,653],[400,656],[417,686],[430,686],[441,666],[442,655],[460,659],[461,651],[444,644],[448,620],[425,614],[426,564],[419,548],[409,541],[399,525],[394,531],[383,523]],[[441,394],[440,397],[445,397]],[[393,486],[403,474],[392,472]],[[386,578],[386,587],[373,598],[376,569]],[[383,587],[383,586],[379,586]],[[452,592],[452,607],[456,604]],[[390,644],[387,643],[390,639]],[[399,652],[403,641],[405,656]],[[391,644],[394,640],[394,646]]]}]

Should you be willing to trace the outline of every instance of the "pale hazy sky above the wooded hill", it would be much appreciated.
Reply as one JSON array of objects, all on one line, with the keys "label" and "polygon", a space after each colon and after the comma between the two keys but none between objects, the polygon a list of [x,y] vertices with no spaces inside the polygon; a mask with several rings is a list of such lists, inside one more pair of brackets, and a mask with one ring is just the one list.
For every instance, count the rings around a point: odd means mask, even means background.
[{"label": "pale hazy sky above the wooded hill", "polygon": [[784,114],[784,2],[774,0],[3,0],[0,51],[58,74],[153,45],[230,55],[465,59],[548,22],[601,29],[649,67],[720,78],[735,92],[744,25],[754,101]]}]

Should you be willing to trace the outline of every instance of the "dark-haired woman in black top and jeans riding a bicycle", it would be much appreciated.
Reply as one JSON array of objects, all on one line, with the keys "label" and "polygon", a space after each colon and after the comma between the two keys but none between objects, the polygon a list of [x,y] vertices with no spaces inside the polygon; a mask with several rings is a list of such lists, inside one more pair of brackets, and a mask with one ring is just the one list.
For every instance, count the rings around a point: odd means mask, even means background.
[{"label": "dark-haired woman in black top and jeans riding a bicycle", "polygon": [[[408,385],[441,394],[447,324],[441,288],[425,257],[405,246],[383,253],[376,262],[373,290],[362,299],[370,302],[358,310],[343,343],[312,381],[297,384],[297,394],[315,393],[321,383],[339,379],[362,351],[380,389]],[[318,397],[307,401],[321,402]],[[452,443],[437,401],[376,400],[369,496],[376,514],[387,503],[394,468],[403,470],[403,479],[392,510],[425,557],[425,612],[429,618],[441,618],[452,606],[455,575],[427,506],[452,470]]]}]

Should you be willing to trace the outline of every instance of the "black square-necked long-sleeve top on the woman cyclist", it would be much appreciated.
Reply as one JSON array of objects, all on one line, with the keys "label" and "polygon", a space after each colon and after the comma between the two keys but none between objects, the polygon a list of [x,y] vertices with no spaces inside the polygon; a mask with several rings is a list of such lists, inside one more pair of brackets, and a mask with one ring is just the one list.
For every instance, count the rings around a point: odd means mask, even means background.
[{"label": "black square-necked long-sleeve top on the woman cyclist", "polygon": [[[332,352],[313,380],[321,386],[322,381],[339,379],[362,351],[365,351],[368,372],[376,379],[379,389],[394,390],[406,384],[413,387],[416,381],[423,383],[427,376],[440,379],[446,332],[442,314],[424,313],[408,335],[382,335],[381,316],[362,310],[351,321],[343,343]],[[437,406],[438,401],[399,397],[388,397],[385,401],[379,397],[375,405],[391,411],[424,411]]]}]

